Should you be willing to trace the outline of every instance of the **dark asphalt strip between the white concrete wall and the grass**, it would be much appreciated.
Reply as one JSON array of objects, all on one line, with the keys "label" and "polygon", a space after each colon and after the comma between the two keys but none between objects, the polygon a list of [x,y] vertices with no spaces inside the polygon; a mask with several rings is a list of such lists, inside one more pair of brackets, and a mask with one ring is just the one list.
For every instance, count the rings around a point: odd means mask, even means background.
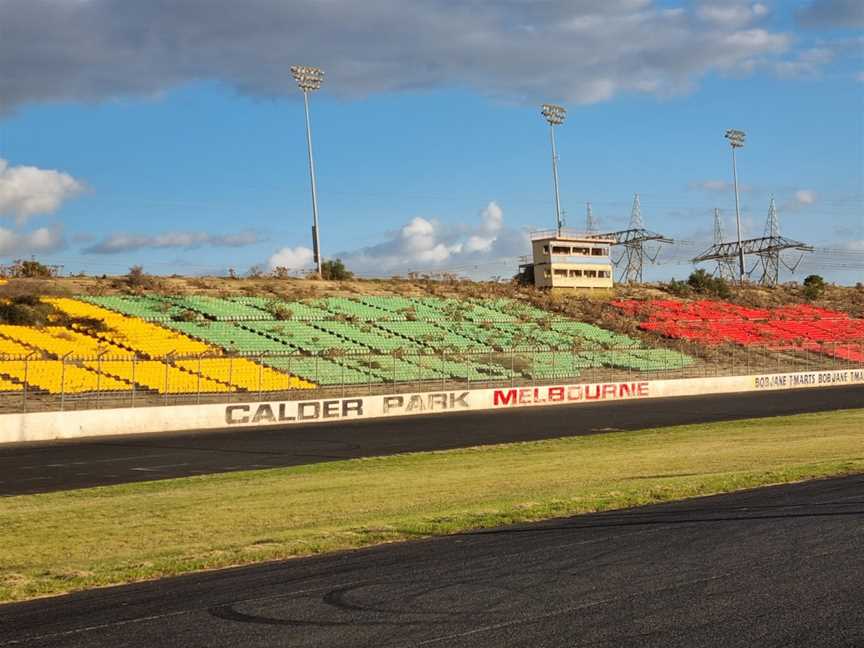
[{"label": "dark asphalt strip between the white concrete wall and the grass", "polygon": [[0,445],[0,496],[857,407],[862,386]]}]

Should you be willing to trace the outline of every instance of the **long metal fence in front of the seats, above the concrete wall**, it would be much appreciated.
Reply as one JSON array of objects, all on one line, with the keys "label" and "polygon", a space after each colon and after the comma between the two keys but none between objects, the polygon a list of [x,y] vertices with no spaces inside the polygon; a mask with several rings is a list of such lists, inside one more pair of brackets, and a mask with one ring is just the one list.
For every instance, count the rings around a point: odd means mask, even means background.
[{"label": "long metal fence in front of the seats, above the concrete wall", "polygon": [[[220,361],[218,371],[208,365],[214,359]],[[255,367],[252,375],[250,361]],[[154,377],[154,362],[161,363],[158,365],[161,376]],[[243,380],[239,380],[240,365],[245,372]],[[142,378],[145,367],[147,380]],[[807,348],[670,342],[665,349],[518,348],[388,355],[331,352],[318,355],[56,357],[34,352],[28,356],[0,355],[0,379],[3,381],[0,383],[0,411],[296,400],[843,368],[864,369],[864,341]],[[270,388],[265,376],[270,369],[300,380],[288,388]],[[82,377],[87,380],[82,382]]]}]

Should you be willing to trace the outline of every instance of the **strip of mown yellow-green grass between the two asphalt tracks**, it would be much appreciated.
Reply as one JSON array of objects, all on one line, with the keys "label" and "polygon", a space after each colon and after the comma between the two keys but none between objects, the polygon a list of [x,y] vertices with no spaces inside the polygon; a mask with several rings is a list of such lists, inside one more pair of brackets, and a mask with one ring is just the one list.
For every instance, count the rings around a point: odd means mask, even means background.
[{"label": "strip of mown yellow-green grass between the two asphalt tracks", "polygon": [[862,430],[847,410],[10,497],[0,601],[864,472]]}]

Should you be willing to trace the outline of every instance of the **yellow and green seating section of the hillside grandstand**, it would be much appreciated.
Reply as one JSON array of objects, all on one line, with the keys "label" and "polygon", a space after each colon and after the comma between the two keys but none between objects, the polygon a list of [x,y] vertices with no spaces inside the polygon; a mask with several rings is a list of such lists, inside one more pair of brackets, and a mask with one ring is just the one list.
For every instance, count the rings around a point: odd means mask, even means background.
[{"label": "yellow and green seating section of the hillside grandstand", "polygon": [[[0,326],[0,390],[154,394],[576,379],[693,363],[510,299],[44,298],[73,323]],[[30,359],[25,361],[24,358]],[[36,363],[38,359],[38,365]],[[27,375],[26,366],[38,367]]]}]

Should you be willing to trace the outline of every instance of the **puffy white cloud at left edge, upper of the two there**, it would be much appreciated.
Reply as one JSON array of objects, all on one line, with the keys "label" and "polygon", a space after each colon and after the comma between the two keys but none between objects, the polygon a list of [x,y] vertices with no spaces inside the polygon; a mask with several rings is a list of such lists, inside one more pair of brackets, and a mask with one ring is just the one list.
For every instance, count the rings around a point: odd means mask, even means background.
[{"label": "puffy white cloud at left edge, upper of the two there", "polygon": [[84,191],[84,185],[61,171],[9,166],[0,158],[0,215],[14,216],[21,225],[32,216],[53,214]]}]

